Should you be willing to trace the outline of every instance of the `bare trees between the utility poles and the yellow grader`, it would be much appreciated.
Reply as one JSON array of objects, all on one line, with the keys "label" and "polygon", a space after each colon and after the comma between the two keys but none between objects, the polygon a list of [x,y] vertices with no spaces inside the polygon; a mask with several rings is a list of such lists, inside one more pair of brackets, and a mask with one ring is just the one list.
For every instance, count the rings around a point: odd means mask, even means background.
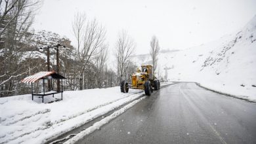
[{"label": "bare trees between the utility poles and the yellow grader", "polygon": [[[75,14],[72,28],[77,43],[77,52],[74,58],[78,63],[74,65],[71,73],[74,73],[73,79],[79,80],[76,82],[79,90],[91,88],[92,85],[96,85],[97,88],[119,85],[121,79],[127,79],[129,73],[135,71],[136,66],[130,59],[136,45],[126,31],[119,33],[116,43],[116,73],[114,70],[108,69],[106,65],[108,44],[106,43],[105,28],[96,20],[88,20],[86,15],[81,13]],[[95,69],[92,69],[93,67]],[[109,72],[110,75],[105,77],[104,73]],[[89,82],[93,75],[95,81]]]}]

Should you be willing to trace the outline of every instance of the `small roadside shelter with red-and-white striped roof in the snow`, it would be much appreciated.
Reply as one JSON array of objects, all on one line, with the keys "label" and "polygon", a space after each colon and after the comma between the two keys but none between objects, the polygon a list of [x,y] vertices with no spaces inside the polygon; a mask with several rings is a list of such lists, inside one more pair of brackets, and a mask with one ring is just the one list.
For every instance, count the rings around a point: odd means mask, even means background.
[{"label": "small roadside shelter with red-and-white striped roof in the snow", "polygon": [[[53,90],[53,79],[61,80],[61,90]],[[55,73],[54,71],[40,71],[39,73],[35,73],[34,75],[30,75],[29,77],[22,79],[21,82],[31,83],[32,100],[33,100],[33,96],[39,96],[39,98],[42,98],[42,102],[43,102],[44,96],[53,95],[53,98],[54,98],[54,94],[59,94],[59,93],[61,93],[61,99],[62,99],[63,79],[66,79],[66,78],[63,77],[62,75],[59,75],[58,73]],[[33,92],[33,83],[39,80],[43,81],[43,92],[36,94]],[[48,80],[51,81],[51,91],[45,92],[45,81],[48,81]]]}]

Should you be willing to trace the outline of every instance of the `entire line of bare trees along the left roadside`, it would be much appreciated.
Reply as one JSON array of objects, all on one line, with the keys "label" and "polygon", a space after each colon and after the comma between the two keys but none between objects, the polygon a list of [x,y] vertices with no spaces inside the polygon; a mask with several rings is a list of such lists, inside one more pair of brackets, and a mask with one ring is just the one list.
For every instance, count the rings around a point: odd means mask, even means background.
[{"label": "entire line of bare trees along the left roadside", "polygon": [[[60,74],[67,78],[66,90],[106,88],[119,85],[122,79],[129,80],[138,65],[131,61],[136,43],[126,31],[121,31],[115,45],[116,70],[107,65],[109,46],[106,43],[106,29],[95,19],[89,20],[85,14],[75,14],[72,29],[77,48],[70,45],[67,38],[52,36],[45,32],[30,31],[35,9],[41,1],[0,0],[0,96],[28,94],[30,86],[20,80],[38,71],[46,71],[46,52],[39,47],[62,43],[60,49]],[[49,34],[49,32],[48,32]],[[154,36],[150,43],[153,67],[157,67],[159,53],[158,39]],[[56,68],[53,49],[51,69]],[[35,84],[39,89],[40,84]]]}]

